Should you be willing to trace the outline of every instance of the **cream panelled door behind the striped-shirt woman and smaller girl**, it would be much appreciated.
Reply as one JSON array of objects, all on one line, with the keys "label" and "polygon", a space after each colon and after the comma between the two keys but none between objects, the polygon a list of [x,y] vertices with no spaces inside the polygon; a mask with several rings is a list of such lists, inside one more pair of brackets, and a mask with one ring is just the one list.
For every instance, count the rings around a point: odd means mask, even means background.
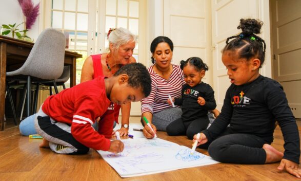
[{"label": "cream panelled door behind the striped-shirt woman and smaller girl", "polygon": [[212,85],[210,0],[164,0],[164,35],[173,44],[172,63],[190,57],[208,66],[204,82]]}]

